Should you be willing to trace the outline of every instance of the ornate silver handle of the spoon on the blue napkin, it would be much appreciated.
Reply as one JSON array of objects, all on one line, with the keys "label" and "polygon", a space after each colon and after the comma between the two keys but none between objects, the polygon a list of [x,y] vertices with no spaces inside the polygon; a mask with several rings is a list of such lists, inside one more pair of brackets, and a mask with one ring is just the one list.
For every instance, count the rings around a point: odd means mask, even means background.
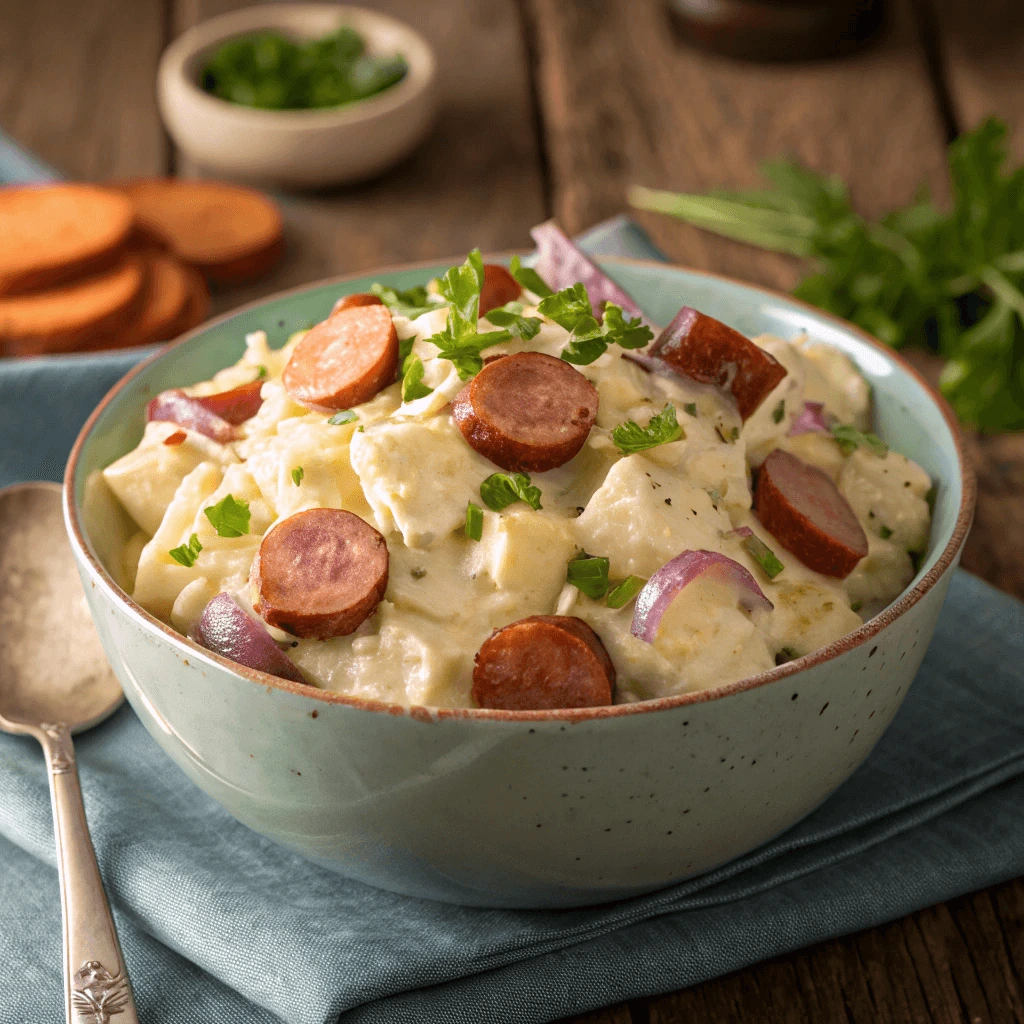
[{"label": "ornate silver handle of the spoon on the blue napkin", "polygon": [[40,740],[50,769],[68,1024],[138,1024],[121,944],[89,839],[71,732],[62,722],[44,724]]}]

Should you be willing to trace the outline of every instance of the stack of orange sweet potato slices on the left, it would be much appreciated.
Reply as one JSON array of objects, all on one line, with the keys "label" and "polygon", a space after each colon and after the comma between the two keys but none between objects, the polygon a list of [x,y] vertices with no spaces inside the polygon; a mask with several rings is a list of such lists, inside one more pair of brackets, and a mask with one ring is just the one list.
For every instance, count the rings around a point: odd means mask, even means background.
[{"label": "stack of orange sweet potato slices on the left", "polygon": [[175,178],[0,190],[0,239],[3,355],[167,341],[284,251],[265,196]]}]

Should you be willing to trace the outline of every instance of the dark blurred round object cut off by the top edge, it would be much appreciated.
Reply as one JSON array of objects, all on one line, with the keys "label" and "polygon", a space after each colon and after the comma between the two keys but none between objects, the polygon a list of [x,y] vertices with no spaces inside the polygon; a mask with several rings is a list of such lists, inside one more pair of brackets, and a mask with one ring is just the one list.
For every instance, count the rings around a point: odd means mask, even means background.
[{"label": "dark blurred round object cut off by the top edge", "polygon": [[668,0],[683,38],[750,60],[808,60],[862,46],[882,0]]}]

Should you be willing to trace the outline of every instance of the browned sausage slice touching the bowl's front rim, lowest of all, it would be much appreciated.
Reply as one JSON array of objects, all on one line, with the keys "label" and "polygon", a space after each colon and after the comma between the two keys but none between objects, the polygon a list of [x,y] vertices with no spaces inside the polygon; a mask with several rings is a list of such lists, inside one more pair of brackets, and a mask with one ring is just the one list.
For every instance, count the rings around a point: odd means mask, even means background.
[{"label": "browned sausage slice touching the bowl's front rim, lowest of all", "polygon": [[573,615],[530,615],[495,630],[476,652],[480,708],[548,711],[610,705],[615,668],[601,638]]}]

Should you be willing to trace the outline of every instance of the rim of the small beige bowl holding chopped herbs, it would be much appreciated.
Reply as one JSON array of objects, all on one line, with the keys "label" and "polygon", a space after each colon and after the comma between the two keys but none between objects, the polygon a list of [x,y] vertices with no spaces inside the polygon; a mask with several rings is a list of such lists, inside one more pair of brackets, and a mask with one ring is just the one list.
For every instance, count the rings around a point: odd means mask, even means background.
[{"label": "rim of the small beige bowl holding chopped herbs", "polygon": [[[214,96],[200,88],[189,74],[188,65],[204,50],[210,49],[229,39],[241,38],[261,30],[287,28],[291,14],[300,10],[324,11],[336,15],[339,20],[354,17],[356,20],[374,25],[376,29],[386,28],[399,32],[412,42],[410,51],[403,53],[409,65],[406,77],[393,86],[366,99],[358,99],[342,106],[314,108],[312,110],[263,110],[246,106]],[[254,24],[247,25],[250,19]],[[366,29],[360,30],[370,34]],[[281,3],[253,4],[238,10],[226,11],[206,18],[183,32],[173,40],[161,54],[157,76],[164,92],[173,80],[183,87],[188,101],[205,108],[210,114],[248,122],[254,130],[299,129],[347,127],[364,124],[385,117],[429,90],[437,74],[437,60],[433,47],[426,38],[409,23],[399,18],[360,7],[355,4],[333,3]]]}]

